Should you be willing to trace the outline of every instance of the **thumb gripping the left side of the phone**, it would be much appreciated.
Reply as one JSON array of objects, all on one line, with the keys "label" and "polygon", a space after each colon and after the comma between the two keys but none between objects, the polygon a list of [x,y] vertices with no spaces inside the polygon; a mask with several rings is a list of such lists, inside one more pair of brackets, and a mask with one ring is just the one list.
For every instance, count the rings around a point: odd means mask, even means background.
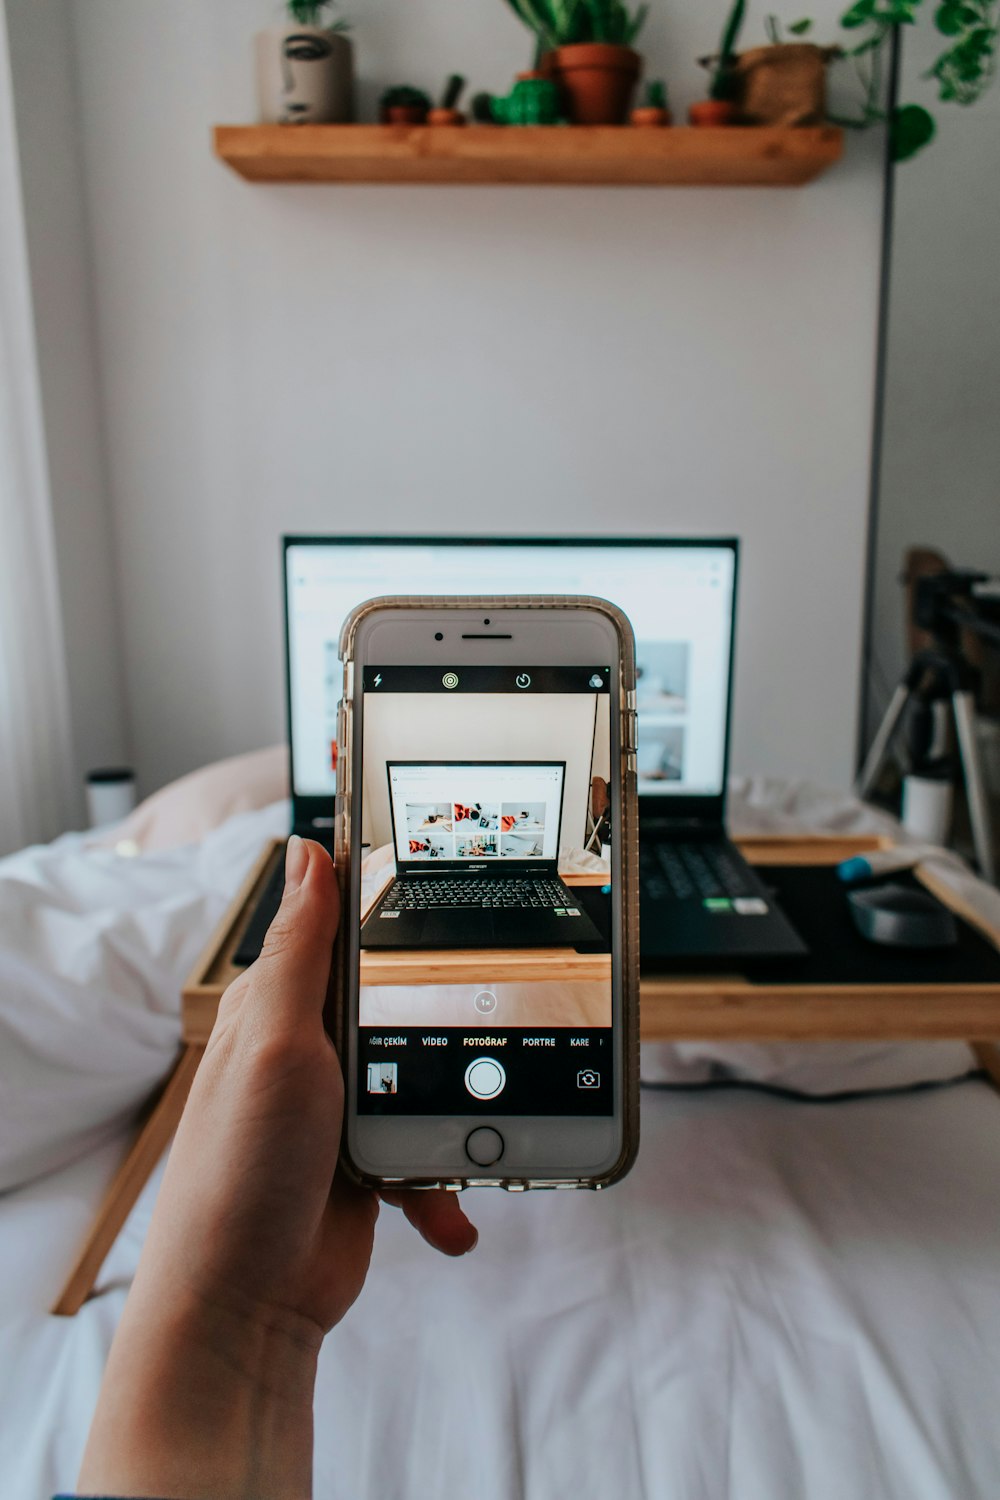
[{"label": "thumb gripping the left side of the phone", "polygon": [[322,1017],[339,916],[330,855],[312,838],[292,834],[285,852],[282,904],[253,964],[247,994],[268,1022],[282,1026]]}]

